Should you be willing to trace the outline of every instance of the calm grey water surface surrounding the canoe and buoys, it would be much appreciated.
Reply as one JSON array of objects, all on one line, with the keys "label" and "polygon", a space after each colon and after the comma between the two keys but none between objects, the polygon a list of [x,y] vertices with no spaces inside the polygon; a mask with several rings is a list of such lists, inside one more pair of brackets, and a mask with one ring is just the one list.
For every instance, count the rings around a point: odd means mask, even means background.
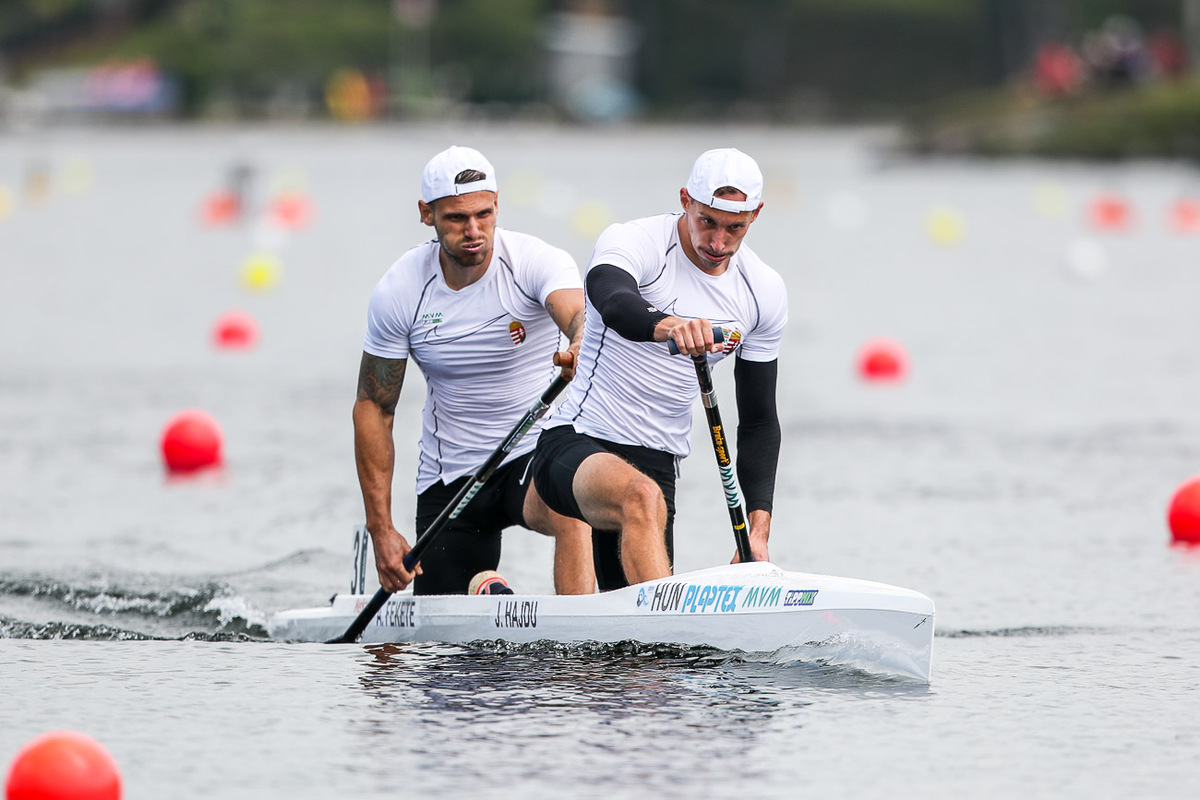
[{"label": "calm grey water surface surrounding the canoe and buoys", "polygon": [[[136,800],[1200,793],[1200,553],[1164,522],[1200,474],[1200,236],[1168,222],[1195,172],[912,162],[871,131],[463,130],[0,136],[5,765],[71,728]],[[502,224],[581,265],[605,222],[674,207],[700,151],[758,158],[748,241],[792,313],[773,560],[932,597],[930,685],[641,645],[266,639],[347,583],[366,299],[427,236],[416,176],[451,143],[497,164]],[[203,225],[236,164],[246,217]],[[306,229],[266,221],[284,190]],[[1099,192],[1129,230],[1088,227]],[[256,253],[269,290],[242,284]],[[234,308],[252,351],[211,345]],[[878,336],[907,348],[901,384],[854,373]],[[422,393],[412,371],[398,518]],[[158,435],[185,408],[221,421],[227,464],[169,480]],[[733,549],[697,433],[679,570]],[[548,591],[550,566],[509,534],[510,583]]]}]

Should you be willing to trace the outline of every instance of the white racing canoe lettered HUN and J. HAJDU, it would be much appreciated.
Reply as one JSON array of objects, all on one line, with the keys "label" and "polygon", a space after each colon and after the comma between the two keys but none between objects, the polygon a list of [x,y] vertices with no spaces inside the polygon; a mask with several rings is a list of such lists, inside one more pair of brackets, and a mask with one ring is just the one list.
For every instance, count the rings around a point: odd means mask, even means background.
[{"label": "white racing canoe lettered HUN and J. HAJDU", "polygon": [[[371,595],[276,614],[271,638],[326,642]],[[707,645],[785,661],[848,663],[929,681],[934,602],[871,581],[768,563],[685,572],[594,595],[392,595],[361,642],[552,640]]]}]

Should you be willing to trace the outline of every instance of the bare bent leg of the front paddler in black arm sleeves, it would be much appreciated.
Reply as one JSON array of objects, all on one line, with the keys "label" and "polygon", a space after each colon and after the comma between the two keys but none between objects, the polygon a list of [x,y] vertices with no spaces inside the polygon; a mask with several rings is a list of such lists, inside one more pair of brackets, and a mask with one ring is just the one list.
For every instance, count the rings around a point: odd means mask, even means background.
[{"label": "bare bent leg of the front paddler in black arm sleeves", "polygon": [[580,464],[571,488],[594,528],[620,531],[620,564],[630,583],[671,575],[667,505],[653,479],[624,458],[595,453]]}]

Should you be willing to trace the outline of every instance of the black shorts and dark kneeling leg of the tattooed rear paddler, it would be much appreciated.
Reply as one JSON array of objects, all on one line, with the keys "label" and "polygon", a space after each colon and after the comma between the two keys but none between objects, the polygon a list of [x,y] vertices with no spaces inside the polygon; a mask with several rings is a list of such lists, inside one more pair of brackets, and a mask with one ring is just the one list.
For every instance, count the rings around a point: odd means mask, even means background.
[{"label": "black shorts and dark kneeling leg of the tattooed rear paddler", "polygon": [[[524,524],[532,458],[533,453],[526,453],[497,469],[462,513],[446,523],[421,555],[421,575],[413,581],[413,594],[464,595],[476,573],[499,566],[500,531]],[[474,473],[464,475],[450,486],[438,481],[416,495],[418,536],[474,477]]]}]

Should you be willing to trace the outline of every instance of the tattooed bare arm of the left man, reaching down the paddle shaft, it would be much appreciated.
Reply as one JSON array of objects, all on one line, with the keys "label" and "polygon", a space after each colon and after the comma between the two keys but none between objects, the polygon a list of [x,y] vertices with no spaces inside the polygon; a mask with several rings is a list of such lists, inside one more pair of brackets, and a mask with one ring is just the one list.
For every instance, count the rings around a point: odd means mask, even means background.
[{"label": "tattooed bare arm of the left man, reaching down the paddle shaft", "polygon": [[407,359],[382,359],[364,353],[354,402],[354,461],[367,531],[374,546],[379,583],[394,593],[413,579],[402,560],[409,551],[408,541],[391,519],[391,479],[396,464],[392,421],[407,365]]}]

